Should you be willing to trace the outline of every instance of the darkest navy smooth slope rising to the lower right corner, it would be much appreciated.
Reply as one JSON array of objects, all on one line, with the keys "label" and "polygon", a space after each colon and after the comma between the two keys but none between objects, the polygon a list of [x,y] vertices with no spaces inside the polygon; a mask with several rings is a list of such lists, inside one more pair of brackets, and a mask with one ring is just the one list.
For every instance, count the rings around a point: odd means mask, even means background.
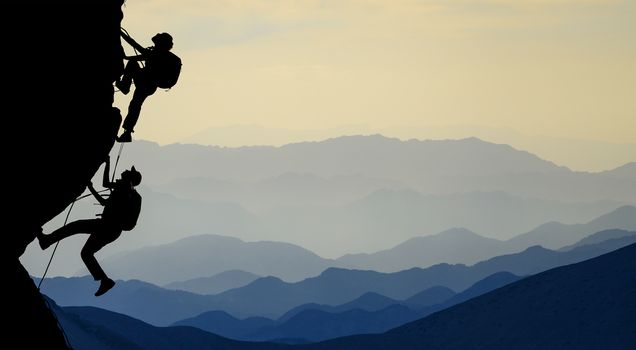
[{"label": "darkest navy smooth slope rising to the lower right corner", "polygon": [[310,350],[631,349],[636,244],[524,278],[381,335]]}]

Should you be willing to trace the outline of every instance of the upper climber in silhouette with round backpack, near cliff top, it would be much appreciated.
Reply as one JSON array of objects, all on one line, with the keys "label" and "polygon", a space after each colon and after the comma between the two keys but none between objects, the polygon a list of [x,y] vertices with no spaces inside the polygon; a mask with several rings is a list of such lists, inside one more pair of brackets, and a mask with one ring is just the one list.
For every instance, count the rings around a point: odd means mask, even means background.
[{"label": "upper climber in silhouette with round backpack, near cliff top", "polygon": [[[152,37],[155,46],[147,48],[139,45],[124,30],[121,31],[121,36],[139,52],[136,56],[125,57],[128,63],[124,68],[124,74],[115,82],[124,94],[130,92],[130,85],[135,82],[135,92],[128,105],[128,115],[124,119],[124,132],[117,138],[119,142],[130,142],[141,113],[141,105],[157,91],[158,87],[169,89],[177,83],[181,72],[181,59],[170,52],[172,36],[168,33],[156,34]],[[141,67],[140,62],[144,62],[145,66]]]}]

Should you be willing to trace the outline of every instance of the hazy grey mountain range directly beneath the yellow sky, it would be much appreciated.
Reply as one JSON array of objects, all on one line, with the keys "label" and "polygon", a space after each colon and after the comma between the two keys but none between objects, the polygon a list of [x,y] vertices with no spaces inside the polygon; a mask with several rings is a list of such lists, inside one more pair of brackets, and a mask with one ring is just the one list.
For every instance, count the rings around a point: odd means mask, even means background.
[{"label": "hazy grey mountain range directly beneath the yellow sky", "polygon": [[[424,193],[501,190],[567,201],[633,200],[636,191],[632,187],[624,192],[636,181],[633,177],[613,176],[609,181],[606,175],[611,174],[573,172],[477,138],[400,141],[381,135],[343,136],[281,147],[238,148],[134,142],[127,158],[149,173],[149,184],[183,178],[258,181],[308,173],[323,178],[360,174],[398,181]],[[564,183],[568,186],[560,185]]]}]

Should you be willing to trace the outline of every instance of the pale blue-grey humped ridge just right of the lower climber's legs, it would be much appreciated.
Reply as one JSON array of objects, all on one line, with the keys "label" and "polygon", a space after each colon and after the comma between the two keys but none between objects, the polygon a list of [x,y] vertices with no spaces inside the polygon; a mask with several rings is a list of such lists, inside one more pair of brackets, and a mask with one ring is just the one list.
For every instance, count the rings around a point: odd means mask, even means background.
[{"label": "pale blue-grey humped ridge just right of the lower climber's legs", "polygon": [[162,285],[236,269],[298,281],[339,264],[294,244],[198,235],[119,254],[107,258],[103,265],[115,278],[143,279]]}]

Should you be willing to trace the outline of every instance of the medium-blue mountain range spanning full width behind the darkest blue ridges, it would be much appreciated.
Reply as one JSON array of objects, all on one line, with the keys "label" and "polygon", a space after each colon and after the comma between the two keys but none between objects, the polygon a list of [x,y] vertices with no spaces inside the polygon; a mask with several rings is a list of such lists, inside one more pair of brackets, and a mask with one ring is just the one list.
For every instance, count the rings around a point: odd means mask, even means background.
[{"label": "medium-blue mountain range spanning full width behind the darkest blue ridges", "polygon": [[395,273],[329,268],[317,277],[288,283],[264,277],[247,286],[217,295],[198,295],[166,290],[141,281],[118,281],[107,295],[95,298],[95,283],[89,277],[51,278],[43,283],[44,293],[63,306],[90,305],[122,312],[140,320],[168,325],[205,311],[224,311],[233,317],[278,318],[306,303],[338,305],[367,292],[404,300],[434,286],[459,291],[500,271],[518,276],[571,264],[598,256],[636,241],[636,235],[557,252],[531,247],[521,253],[495,257],[472,266],[439,264]]}]

